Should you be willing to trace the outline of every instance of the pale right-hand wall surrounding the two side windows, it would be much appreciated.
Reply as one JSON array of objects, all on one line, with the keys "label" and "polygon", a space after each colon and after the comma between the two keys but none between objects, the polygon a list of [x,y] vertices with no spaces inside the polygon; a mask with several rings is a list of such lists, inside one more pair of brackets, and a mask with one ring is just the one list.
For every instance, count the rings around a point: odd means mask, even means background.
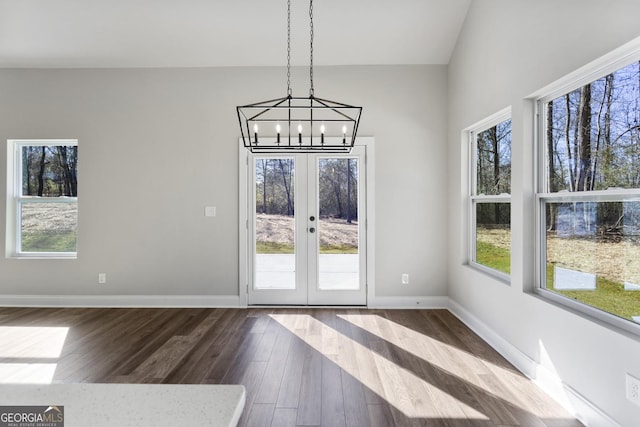
[{"label": "pale right-hand wall surrounding the two side windows", "polygon": [[[476,0],[449,65],[450,298],[624,426],[640,419],[640,407],[625,399],[625,373],[640,377],[640,341],[527,293],[534,187],[532,118],[524,99],[640,36],[638,16],[636,0]],[[461,141],[464,128],[507,106],[513,108],[511,285],[464,265]]]}]

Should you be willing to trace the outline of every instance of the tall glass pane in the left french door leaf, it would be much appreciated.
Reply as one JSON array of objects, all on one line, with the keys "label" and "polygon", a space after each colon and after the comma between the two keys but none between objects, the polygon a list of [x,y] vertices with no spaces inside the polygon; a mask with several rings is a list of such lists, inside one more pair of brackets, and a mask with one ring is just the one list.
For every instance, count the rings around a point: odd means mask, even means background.
[{"label": "tall glass pane in the left french door leaf", "polygon": [[295,209],[292,158],[257,158],[255,289],[295,289]]}]

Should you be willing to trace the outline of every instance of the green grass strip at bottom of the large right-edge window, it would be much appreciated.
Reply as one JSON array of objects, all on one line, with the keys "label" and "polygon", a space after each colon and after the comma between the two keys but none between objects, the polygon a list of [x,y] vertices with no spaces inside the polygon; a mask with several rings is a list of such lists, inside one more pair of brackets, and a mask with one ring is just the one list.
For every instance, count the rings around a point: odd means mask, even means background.
[{"label": "green grass strip at bottom of the large right-edge window", "polygon": [[596,276],[594,291],[565,291],[553,286],[554,264],[547,264],[547,289],[616,316],[640,316],[640,291],[625,291],[624,284]]}]

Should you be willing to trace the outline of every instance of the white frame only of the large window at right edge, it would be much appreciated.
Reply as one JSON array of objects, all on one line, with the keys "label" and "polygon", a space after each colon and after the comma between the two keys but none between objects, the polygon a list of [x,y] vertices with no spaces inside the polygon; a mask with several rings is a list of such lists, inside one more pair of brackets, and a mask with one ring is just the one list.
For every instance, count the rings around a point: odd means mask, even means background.
[{"label": "white frame only of the large window at right edge", "polygon": [[640,324],[618,317],[595,306],[576,301],[546,288],[547,285],[547,235],[546,203],[562,202],[627,202],[640,199],[640,188],[611,188],[591,191],[549,192],[547,183],[546,135],[547,105],[550,101],[593,83],[634,62],[640,61],[640,39],[636,39],[607,55],[581,67],[580,69],[548,85],[530,99],[533,101],[534,130],[534,173],[535,173],[535,266],[534,294],[556,306],[584,316],[597,323],[613,327],[620,332],[640,336]]}]

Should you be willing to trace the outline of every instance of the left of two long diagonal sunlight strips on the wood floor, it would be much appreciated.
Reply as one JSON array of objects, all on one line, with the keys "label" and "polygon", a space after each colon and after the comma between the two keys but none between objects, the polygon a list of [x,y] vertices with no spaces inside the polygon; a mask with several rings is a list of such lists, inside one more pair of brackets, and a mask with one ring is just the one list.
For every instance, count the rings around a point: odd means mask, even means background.
[{"label": "left of two long diagonal sunlight strips on the wood floor", "polygon": [[271,318],[410,418],[489,418],[309,315]]}]

